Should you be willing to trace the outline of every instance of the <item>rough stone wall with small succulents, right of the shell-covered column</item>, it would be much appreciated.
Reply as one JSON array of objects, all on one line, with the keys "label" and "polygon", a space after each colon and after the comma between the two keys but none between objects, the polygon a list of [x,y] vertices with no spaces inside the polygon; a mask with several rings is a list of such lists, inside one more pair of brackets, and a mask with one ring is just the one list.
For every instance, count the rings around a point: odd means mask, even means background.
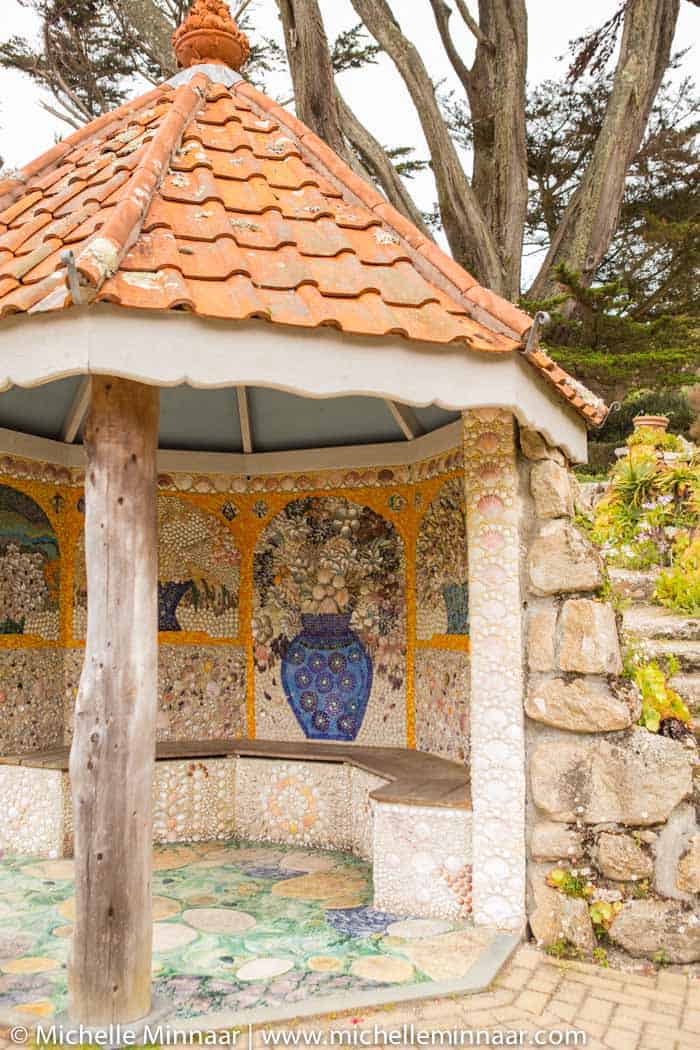
[{"label": "rough stone wall with small succulents, right of the shell-covered column", "polygon": [[568,464],[531,430],[521,432],[521,448],[532,932],[591,952],[593,919],[634,956],[700,960],[695,744],[637,724],[618,616],[574,522]]}]

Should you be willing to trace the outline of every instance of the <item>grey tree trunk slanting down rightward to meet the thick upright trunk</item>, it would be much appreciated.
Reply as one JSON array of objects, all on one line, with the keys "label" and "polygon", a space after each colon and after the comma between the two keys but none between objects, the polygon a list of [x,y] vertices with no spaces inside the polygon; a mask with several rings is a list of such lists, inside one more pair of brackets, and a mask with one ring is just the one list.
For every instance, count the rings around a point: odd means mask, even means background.
[{"label": "grey tree trunk slanting down rightward to meet the thick upright trunk", "polygon": [[503,289],[495,242],[469,184],[436,89],[417,48],[403,35],[386,0],[352,0],[353,7],[389,56],[413,101],[428,143],[440,211],[452,254],[494,291]]}]

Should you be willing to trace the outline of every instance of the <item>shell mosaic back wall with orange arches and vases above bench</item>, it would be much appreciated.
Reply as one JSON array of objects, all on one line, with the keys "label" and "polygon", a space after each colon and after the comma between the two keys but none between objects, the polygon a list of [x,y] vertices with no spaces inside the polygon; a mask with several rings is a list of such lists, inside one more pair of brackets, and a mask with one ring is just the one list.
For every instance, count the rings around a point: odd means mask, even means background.
[{"label": "shell mosaic back wall with orange arches and vases above bench", "polygon": [[[463,478],[461,449],[363,470],[162,474],[158,738],[310,737],[467,761]],[[70,741],[83,528],[81,470],[2,458],[0,754]]]}]

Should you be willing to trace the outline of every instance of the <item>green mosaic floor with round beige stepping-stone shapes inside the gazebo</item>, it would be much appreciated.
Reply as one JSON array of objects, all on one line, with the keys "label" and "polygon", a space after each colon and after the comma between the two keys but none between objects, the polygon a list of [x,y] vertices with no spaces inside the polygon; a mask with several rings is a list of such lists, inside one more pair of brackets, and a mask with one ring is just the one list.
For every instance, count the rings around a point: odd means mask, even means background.
[{"label": "green mosaic floor with round beige stepping-stone shapes inside the gazebo", "polygon": [[[347,854],[188,845],[154,867],[154,993],[181,1022],[437,992],[492,939],[374,910],[372,870]],[[72,894],[71,861],[0,860],[0,1020],[65,1010]]]}]

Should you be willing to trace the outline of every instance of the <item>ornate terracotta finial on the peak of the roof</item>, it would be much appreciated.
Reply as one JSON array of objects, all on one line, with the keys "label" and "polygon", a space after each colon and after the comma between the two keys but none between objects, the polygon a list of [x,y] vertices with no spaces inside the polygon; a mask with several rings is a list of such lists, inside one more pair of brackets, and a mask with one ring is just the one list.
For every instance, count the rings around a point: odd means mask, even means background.
[{"label": "ornate terracotta finial on the peak of the roof", "polygon": [[246,64],[251,45],[220,0],[194,0],[183,24],[172,38],[181,68],[218,63],[236,72]]}]

